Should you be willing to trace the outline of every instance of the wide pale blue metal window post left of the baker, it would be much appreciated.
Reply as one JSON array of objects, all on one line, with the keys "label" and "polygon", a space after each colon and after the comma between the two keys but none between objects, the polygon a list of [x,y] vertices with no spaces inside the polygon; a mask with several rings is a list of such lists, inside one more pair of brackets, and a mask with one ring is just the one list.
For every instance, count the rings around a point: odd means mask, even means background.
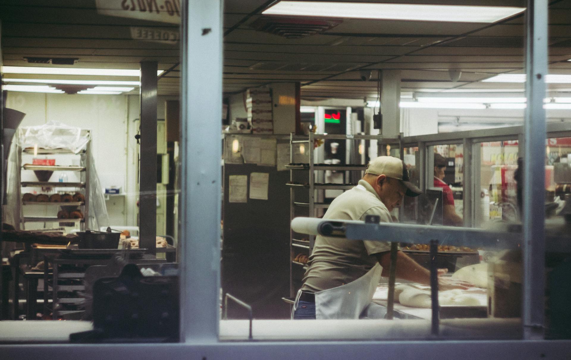
[{"label": "wide pale blue metal window post left of the baker", "polygon": [[183,2],[180,338],[218,341],[222,1]]}]

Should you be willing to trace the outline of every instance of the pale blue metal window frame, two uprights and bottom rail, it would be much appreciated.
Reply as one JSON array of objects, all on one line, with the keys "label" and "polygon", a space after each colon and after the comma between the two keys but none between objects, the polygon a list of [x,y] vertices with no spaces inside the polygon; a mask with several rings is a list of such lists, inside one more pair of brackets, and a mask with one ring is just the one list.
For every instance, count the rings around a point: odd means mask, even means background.
[{"label": "pale blue metal window frame, two uprights and bottom rail", "polygon": [[[192,9],[192,11],[188,11]],[[533,209],[529,200],[524,204],[525,218],[539,215],[529,222],[525,239],[531,244],[526,253],[524,287],[523,340],[516,341],[291,341],[291,342],[220,342],[220,103],[222,103],[222,0],[188,0],[183,3],[182,25],[182,188],[181,188],[181,251],[180,263],[180,343],[149,344],[37,344],[0,345],[6,358],[64,357],[81,354],[85,359],[110,358],[248,358],[268,359],[278,354],[283,359],[299,359],[307,354],[330,359],[366,357],[437,357],[456,359],[458,353],[471,358],[520,359],[525,357],[564,357],[571,351],[571,341],[539,340],[543,323],[542,261],[530,258],[532,251],[541,250],[532,236],[542,234],[543,215]],[[545,85],[531,74],[545,74],[547,67],[546,38],[548,3],[528,0],[528,91],[531,92],[525,122],[527,169],[540,159],[540,151],[533,154],[531,146],[545,141],[545,111],[542,98]],[[531,39],[531,40],[529,40]],[[192,51],[190,49],[192,48]],[[531,49],[531,50],[529,50]],[[544,53],[541,53],[544,51]],[[538,67],[541,69],[538,70]],[[200,101],[198,101],[200,99]],[[532,117],[533,115],[533,117]],[[533,122],[531,119],[533,118]],[[418,139],[424,142],[425,139]],[[541,157],[541,161],[543,158]],[[536,168],[525,177],[531,185],[544,171]],[[528,187],[529,189],[529,187]],[[530,199],[536,199],[536,196]],[[192,206],[193,204],[201,206]],[[537,207],[540,209],[540,207]],[[539,226],[541,225],[541,226]],[[541,229],[539,229],[541,227]],[[540,274],[538,277],[534,276]],[[530,279],[533,281],[529,282]],[[537,282],[536,282],[537,280]],[[206,304],[206,306],[204,306]],[[17,323],[14,326],[18,326]],[[302,326],[300,323],[299,326]],[[0,339],[1,340],[1,339]],[[431,354],[431,355],[427,355]],[[525,355],[524,355],[525,354]]]}]

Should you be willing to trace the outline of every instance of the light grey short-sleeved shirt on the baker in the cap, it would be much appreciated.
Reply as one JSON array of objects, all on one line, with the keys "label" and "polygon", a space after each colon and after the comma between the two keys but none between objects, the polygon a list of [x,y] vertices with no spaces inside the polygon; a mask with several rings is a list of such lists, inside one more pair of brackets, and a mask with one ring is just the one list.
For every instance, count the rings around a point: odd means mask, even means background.
[{"label": "light grey short-sleeved shirt on the baker in the cap", "polygon": [[[381,222],[392,222],[391,214],[373,187],[360,180],[359,185],[333,200],[323,218],[364,221],[366,215],[379,215]],[[388,242],[317,235],[301,290],[315,293],[352,282],[375,266],[374,254],[390,250]]]}]

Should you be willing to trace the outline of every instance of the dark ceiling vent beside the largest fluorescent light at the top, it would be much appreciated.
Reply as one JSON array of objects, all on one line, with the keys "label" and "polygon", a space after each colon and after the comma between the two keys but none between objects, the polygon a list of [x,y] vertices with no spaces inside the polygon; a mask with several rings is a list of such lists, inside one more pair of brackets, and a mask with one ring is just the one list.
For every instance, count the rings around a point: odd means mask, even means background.
[{"label": "dark ceiling vent beside the largest fluorescent light at the top", "polygon": [[287,39],[299,39],[323,33],[339,25],[341,19],[280,18],[262,16],[250,26],[258,31],[279,35]]}]

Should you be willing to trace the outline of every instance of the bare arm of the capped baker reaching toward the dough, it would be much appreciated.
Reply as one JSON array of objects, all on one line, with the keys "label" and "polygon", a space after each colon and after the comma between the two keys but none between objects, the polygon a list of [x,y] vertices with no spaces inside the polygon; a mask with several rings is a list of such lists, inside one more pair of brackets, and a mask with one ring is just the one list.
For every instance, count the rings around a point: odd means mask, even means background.
[{"label": "bare arm of the capped baker reaching toward the dough", "polygon": [[[388,277],[389,266],[391,266],[391,252],[384,251],[383,253],[375,254],[377,261],[383,266],[383,275]],[[439,270],[439,275],[444,274],[446,271]],[[408,281],[413,281],[421,283],[424,285],[430,285],[430,271],[424,269],[419,263],[411,259],[403,251],[397,252],[396,259],[396,277],[399,279],[404,279]],[[439,277],[439,290],[451,290],[451,289],[468,289],[468,287],[474,286],[472,283],[466,281],[456,281],[448,278]]]}]

